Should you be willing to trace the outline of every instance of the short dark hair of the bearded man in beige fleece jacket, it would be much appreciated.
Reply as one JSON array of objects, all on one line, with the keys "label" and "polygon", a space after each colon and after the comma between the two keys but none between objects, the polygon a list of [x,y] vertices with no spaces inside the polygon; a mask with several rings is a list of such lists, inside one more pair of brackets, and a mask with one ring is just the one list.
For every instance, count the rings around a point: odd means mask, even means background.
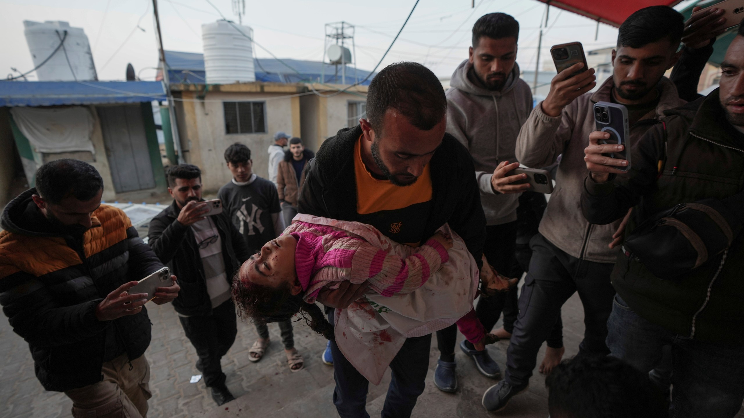
[{"label": "short dark hair of the bearded man in beige fleece jacket", "polygon": [[636,10],[618,29],[618,47],[641,48],[651,42],[669,39],[676,49],[682,40],[684,16],[667,6],[651,6]]}]

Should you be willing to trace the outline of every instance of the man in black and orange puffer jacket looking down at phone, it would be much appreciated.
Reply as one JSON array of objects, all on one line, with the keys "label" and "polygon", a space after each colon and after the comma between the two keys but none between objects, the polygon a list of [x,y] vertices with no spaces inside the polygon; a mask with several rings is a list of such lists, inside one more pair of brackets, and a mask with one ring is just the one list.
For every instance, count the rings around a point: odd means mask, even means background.
[{"label": "man in black and orange puffer jacket looking down at phone", "polygon": [[[0,303],[28,341],[36,377],[65,392],[74,417],[147,414],[147,294],[126,291],[163,264],[126,214],[101,205],[103,180],[87,163],[51,161],[36,188],[2,213]],[[175,280],[175,277],[173,277]],[[161,287],[170,302],[179,286]]]}]

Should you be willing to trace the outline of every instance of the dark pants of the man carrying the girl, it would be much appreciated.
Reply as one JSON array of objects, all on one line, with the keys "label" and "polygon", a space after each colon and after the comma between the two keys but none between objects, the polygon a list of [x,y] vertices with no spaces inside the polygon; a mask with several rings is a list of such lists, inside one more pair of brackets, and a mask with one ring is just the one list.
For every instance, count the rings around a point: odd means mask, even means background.
[{"label": "dark pants of the man carrying the girl", "polygon": [[[328,315],[333,324],[333,310]],[[432,347],[432,335],[406,338],[393,361],[390,363],[392,380],[382,407],[382,418],[411,417],[416,399],[426,388],[426,372],[429,371],[429,350]],[[333,405],[341,418],[365,417],[369,381],[344,357],[335,342],[330,343],[333,354],[333,379],[336,389],[333,391]]]}]

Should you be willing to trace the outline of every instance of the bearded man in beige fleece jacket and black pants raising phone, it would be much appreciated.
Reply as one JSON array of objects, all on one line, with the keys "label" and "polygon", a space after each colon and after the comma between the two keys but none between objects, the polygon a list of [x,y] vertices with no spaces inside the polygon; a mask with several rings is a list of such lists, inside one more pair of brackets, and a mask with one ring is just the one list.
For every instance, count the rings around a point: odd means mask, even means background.
[{"label": "bearded man in beige fleece jacket and black pants raising phone", "polygon": [[[597,130],[592,106],[598,101],[626,106],[630,126],[630,138],[626,139],[634,144],[664,118],[665,110],[684,103],[674,83],[664,77],[679,59],[677,49],[683,34],[698,42],[700,37],[711,39],[718,18],[715,13],[696,16],[696,25],[691,26],[698,30],[697,37],[690,37],[690,33],[683,33],[682,15],[670,7],[636,11],[618,30],[612,77],[591,93],[596,85],[594,70],[573,75],[583,63],[572,65],[554,77],[548,97],[522,126],[516,141],[517,158],[527,167],[545,167],[562,154],[557,172],[559,187],[548,202],[539,234],[530,242],[533,257],[507,350],[506,376],[484,394],[483,404],[489,411],[503,409],[513,396],[527,389],[537,352],[548,338],[561,306],[574,292],[581,297],[586,326],[579,355],[609,354],[605,343],[607,318],[615,296],[609,274],[616,258],[612,248],[620,242],[623,220],[592,225],[580,213],[586,176],[584,148],[589,144],[589,134]],[[712,47],[708,48],[712,52]],[[697,83],[699,73],[688,72],[685,76],[676,83]]]}]

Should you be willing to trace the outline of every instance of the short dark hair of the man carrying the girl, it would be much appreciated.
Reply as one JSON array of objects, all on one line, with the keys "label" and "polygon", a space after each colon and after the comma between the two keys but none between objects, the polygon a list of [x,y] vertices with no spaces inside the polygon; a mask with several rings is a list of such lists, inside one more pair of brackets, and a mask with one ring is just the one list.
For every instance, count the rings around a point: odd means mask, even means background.
[{"label": "short dark hair of the man carrying the girl", "polygon": [[367,91],[367,120],[378,133],[388,109],[428,131],[444,118],[447,99],[437,76],[418,62],[395,62],[382,68]]}]

